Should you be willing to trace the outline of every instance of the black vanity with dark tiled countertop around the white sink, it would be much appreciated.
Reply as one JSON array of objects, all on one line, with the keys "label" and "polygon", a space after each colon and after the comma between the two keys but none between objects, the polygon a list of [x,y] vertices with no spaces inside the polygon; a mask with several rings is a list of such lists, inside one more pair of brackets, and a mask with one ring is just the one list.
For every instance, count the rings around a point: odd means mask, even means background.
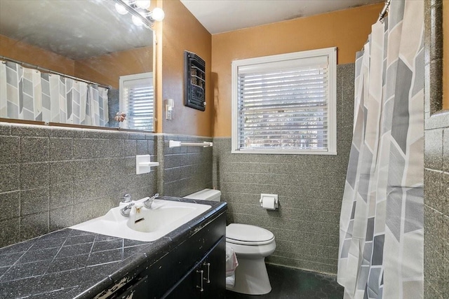
[{"label": "black vanity with dark tiled countertop around the white sink", "polygon": [[65,228],[1,248],[0,298],[225,298],[227,204],[204,203],[207,211],[154,242]]}]

